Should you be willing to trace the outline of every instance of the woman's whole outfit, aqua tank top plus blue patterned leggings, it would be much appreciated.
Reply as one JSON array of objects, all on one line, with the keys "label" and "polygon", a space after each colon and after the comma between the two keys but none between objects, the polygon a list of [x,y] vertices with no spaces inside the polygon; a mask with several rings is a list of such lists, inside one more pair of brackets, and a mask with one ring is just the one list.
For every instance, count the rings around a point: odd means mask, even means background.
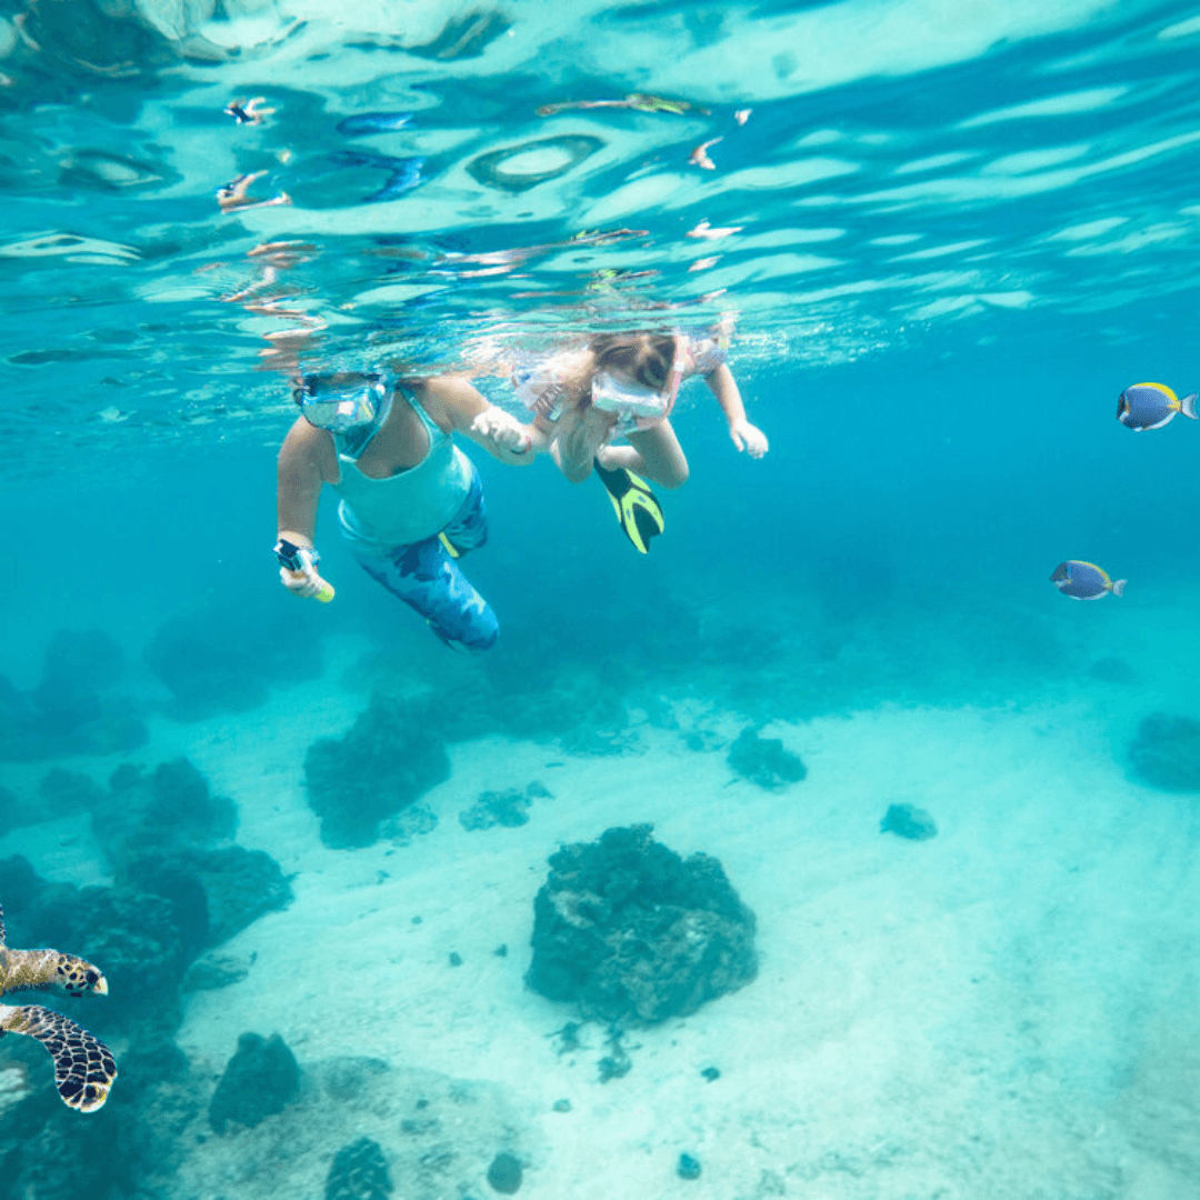
[{"label": "woman's whole outfit, aqua tank top plus blue patterned leggings", "polygon": [[460,554],[487,541],[479,473],[412,392],[397,388],[395,396],[420,418],[430,438],[428,454],[415,467],[386,479],[359,470],[358,460],[390,404],[365,433],[335,437],[342,532],[362,569],[420,613],[442,641],[486,650],[499,635],[496,613],[439,538],[445,534]]}]

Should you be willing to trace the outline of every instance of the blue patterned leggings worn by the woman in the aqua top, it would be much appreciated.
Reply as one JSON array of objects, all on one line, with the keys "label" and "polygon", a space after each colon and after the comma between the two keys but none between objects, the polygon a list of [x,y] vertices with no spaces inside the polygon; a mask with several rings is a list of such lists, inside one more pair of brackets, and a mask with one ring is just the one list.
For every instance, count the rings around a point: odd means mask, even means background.
[{"label": "blue patterned leggings worn by the woman in the aqua top", "polygon": [[476,472],[462,506],[439,536],[379,550],[344,527],[342,533],[362,570],[424,617],[446,646],[487,650],[496,644],[500,632],[496,613],[443,542],[444,536],[460,554],[487,542],[487,509]]}]

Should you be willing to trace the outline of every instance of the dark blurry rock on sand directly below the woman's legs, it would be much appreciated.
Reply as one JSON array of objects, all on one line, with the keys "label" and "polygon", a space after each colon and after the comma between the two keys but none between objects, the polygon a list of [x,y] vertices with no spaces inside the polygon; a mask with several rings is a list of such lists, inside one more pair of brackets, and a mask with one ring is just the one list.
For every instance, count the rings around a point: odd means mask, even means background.
[{"label": "dark blurry rock on sand directly below the woman's legs", "polygon": [[305,755],[308,806],[334,850],[370,846],[379,823],[450,778],[445,744],[421,706],[376,694],[342,738],[320,738]]}]

